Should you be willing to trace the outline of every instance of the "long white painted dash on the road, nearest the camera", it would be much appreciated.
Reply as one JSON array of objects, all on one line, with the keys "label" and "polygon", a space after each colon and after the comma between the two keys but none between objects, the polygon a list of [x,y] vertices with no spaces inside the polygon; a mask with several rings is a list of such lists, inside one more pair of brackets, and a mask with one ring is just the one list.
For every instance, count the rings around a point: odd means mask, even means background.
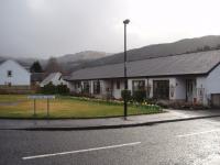
[{"label": "long white painted dash on the road, nearest the camera", "polygon": [[58,156],[58,155],[67,155],[67,154],[76,154],[76,153],[85,153],[98,150],[107,150],[107,148],[117,148],[123,146],[132,146],[138,145],[141,142],[133,142],[133,143],[125,143],[125,144],[118,144],[118,145],[109,145],[109,146],[101,146],[101,147],[91,147],[86,150],[78,150],[78,151],[69,151],[69,152],[62,152],[62,153],[54,153],[54,154],[43,154],[43,155],[35,155],[35,156],[26,156],[22,157],[22,160],[33,160],[33,158],[42,158],[42,157],[51,157],[51,156]]}]

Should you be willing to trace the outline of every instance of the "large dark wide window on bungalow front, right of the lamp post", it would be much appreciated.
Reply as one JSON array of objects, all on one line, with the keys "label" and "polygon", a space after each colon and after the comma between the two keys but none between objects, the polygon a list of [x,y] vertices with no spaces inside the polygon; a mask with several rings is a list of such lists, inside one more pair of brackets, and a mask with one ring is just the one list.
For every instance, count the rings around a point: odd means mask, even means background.
[{"label": "large dark wide window on bungalow front, right of the lamp post", "polygon": [[153,97],[157,99],[169,99],[169,80],[154,80]]}]

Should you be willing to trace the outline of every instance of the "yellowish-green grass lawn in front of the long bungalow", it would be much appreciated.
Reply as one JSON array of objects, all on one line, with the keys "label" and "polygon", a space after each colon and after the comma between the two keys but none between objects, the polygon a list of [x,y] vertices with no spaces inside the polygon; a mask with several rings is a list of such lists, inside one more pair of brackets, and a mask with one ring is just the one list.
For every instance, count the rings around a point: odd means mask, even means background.
[{"label": "yellowish-green grass lawn in front of the long bungalow", "polygon": [[[158,108],[129,106],[129,114],[150,114],[162,112]],[[57,97],[51,100],[50,118],[99,118],[123,116],[123,106],[73,97]],[[46,117],[46,101],[36,100],[36,117]],[[21,95],[0,95],[0,118],[34,118],[33,100]]]}]

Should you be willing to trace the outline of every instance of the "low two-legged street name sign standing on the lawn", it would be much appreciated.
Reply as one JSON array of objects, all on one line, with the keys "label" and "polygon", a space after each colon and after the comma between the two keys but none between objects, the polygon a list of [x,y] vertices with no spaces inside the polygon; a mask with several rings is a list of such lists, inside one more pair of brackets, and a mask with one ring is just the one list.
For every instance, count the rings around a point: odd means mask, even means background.
[{"label": "low two-legged street name sign standing on the lawn", "polygon": [[47,102],[46,117],[47,118],[50,117],[50,100],[55,99],[55,96],[53,96],[53,95],[31,95],[31,96],[28,96],[28,99],[34,100],[34,117],[36,116],[36,100],[46,99],[47,100],[46,101]]}]

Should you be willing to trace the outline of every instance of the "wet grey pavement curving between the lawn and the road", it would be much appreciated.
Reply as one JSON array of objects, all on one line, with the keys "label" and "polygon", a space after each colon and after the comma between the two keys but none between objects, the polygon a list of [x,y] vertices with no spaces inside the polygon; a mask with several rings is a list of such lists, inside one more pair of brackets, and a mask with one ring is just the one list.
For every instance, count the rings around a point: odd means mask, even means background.
[{"label": "wet grey pavement curving between the lawn and the road", "polygon": [[132,116],[128,120],[123,118],[106,119],[65,119],[65,120],[0,120],[0,130],[96,130],[96,129],[119,129],[152,125],[164,122],[177,122],[185,120],[217,118],[220,117],[220,110],[169,110],[164,113]]}]

